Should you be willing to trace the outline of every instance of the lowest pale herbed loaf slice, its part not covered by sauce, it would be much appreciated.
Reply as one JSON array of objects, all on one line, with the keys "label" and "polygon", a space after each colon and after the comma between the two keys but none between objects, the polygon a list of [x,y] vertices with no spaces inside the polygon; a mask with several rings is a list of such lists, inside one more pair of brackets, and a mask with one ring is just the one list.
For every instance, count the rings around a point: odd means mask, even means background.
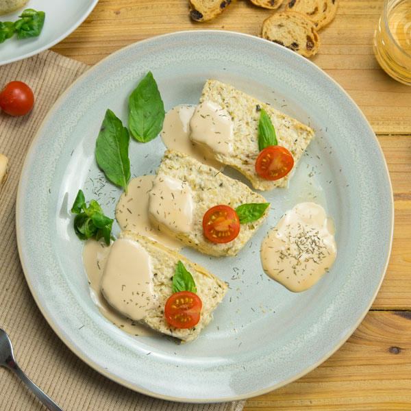
[{"label": "lowest pale herbed loaf slice, its part not covered by sauce", "polygon": [[[212,312],[223,300],[227,292],[227,284],[212,275],[203,266],[188,260],[177,251],[164,247],[159,242],[149,240],[149,238],[139,236],[134,232],[121,232],[119,238],[138,242],[149,253],[151,259],[153,292],[157,297],[158,306],[148,312],[140,322],[184,342],[195,340],[201,330],[212,320]],[[173,275],[178,261],[181,261],[192,275],[197,287],[197,295],[203,303],[199,323],[188,329],[173,327],[164,316],[165,303],[173,294]]]}]

